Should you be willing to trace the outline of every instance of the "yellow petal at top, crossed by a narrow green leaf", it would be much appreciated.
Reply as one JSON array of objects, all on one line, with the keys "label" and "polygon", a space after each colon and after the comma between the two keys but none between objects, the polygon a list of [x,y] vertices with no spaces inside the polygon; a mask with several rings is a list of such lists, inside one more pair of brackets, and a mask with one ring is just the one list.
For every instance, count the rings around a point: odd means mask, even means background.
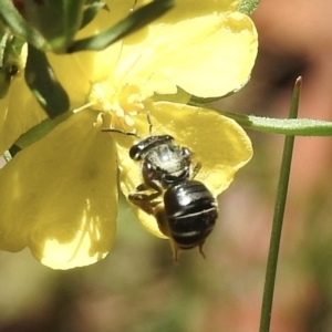
[{"label": "yellow petal at top, crossed by a narrow green leaf", "polygon": [[[112,0],[108,10],[100,10],[94,20],[80,30],[76,40],[93,37],[117,23],[131,13],[134,1]],[[113,43],[104,51],[84,51],[73,54],[48,54],[58,79],[69,93],[72,108],[86,103],[91,83],[104,80],[114,71],[122,49],[122,42]],[[79,105],[77,105],[79,103]]]}]

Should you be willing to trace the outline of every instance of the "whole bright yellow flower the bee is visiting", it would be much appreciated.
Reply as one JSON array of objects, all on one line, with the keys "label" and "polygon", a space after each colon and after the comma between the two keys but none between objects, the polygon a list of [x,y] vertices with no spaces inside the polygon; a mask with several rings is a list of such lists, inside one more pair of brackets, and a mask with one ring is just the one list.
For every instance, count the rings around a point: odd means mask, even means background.
[{"label": "whole bright yellow flower the bee is visiting", "polygon": [[[110,12],[98,13],[81,35],[97,33],[133,6],[132,0],[108,2]],[[0,170],[0,249],[29,247],[54,269],[104,258],[116,231],[117,169],[125,196],[142,177],[139,165],[128,157],[135,137],[101,128],[146,137],[146,112],[152,134],[170,134],[195,153],[203,164],[196,179],[215,197],[229,186],[251,158],[249,138],[232,120],[185,103],[190,95],[222,96],[247,82],[257,33],[251,20],[236,11],[238,4],[179,0],[167,14],[103,52],[49,54],[72,108],[84,110]],[[44,118],[22,79],[14,81],[0,104],[0,153]],[[165,238],[152,216],[133,208],[149,231]]]}]

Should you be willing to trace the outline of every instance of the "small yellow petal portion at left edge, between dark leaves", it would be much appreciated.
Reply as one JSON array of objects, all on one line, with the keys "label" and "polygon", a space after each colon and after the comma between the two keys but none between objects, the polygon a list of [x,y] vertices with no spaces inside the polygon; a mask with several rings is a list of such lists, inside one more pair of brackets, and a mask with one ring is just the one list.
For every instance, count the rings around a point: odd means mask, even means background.
[{"label": "small yellow petal portion at left edge, between dark leaves", "polygon": [[0,100],[0,155],[45,117],[23,75],[15,76],[7,96]]}]

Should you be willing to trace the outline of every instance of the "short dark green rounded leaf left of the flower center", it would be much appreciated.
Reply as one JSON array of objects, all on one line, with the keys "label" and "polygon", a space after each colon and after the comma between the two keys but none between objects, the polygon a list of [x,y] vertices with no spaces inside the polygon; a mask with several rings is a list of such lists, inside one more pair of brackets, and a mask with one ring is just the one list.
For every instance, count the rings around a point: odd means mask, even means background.
[{"label": "short dark green rounded leaf left of the flower center", "polygon": [[29,45],[24,75],[31,92],[50,117],[69,110],[68,94],[58,82],[45,53],[31,45]]}]

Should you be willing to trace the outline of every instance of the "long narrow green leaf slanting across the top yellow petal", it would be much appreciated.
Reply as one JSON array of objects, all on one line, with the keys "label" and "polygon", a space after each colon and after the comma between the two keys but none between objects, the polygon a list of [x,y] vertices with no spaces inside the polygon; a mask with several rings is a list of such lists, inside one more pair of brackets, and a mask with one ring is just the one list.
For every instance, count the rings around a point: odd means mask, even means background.
[{"label": "long narrow green leaf slanting across the top yellow petal", "polygon": [[98,33],[97,35],[75,41],[69,48],[68,52],[72,53],[84,50],[104,50],[117,40],[137,31],[153,20],[157,19],[172,7],[174,7],[174,0],[155,0],[145,7],[137,9],[126,19],[120,21],[114,27]]}]

